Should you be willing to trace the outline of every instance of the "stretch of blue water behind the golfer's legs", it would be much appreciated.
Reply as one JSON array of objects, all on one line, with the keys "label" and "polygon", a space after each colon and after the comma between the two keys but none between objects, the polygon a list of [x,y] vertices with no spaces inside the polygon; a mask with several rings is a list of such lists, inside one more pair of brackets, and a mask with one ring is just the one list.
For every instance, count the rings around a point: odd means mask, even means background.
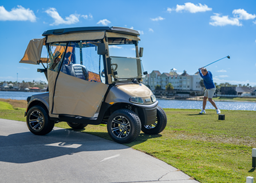
[{"label": "stretch of blue water behind the golfer's legs", "polygon": [[[186,100],[158,100],[162,108],[173,109],[202,109],[203,101],[186,101]],[[256,102],[220,102],[215,101],[220,110],[256,110]],[[215,109],[207,101],[206,109]]]}]

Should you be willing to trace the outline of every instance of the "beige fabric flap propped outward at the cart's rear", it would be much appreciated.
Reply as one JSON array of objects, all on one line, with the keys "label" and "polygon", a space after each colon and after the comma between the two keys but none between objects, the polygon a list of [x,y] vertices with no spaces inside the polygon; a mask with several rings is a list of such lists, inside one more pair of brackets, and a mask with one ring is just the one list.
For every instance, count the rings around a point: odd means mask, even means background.
[{"label": "beige fabric flap propped outward at the cart's rear", "polygon": [[[19,63],[30,63],[37,65],[38,61],[41,60],[42,46],[45,44],[45,38],[42,39],[32,39],[27,45],[27,49],[21,61]],[[46,63],[46,58],[44,59]]]}]

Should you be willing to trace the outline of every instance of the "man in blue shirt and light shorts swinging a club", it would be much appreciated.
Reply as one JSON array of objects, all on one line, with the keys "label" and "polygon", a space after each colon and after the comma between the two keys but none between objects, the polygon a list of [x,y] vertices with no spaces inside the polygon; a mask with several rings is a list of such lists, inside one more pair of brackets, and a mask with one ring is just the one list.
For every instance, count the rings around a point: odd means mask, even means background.
[{"label": "man in blue shirt and light shorts swinging a club", "polygon": [[202,67],[202,68],[199,68],[199,74],[203,78],[203,83],[204,83],[204,86],[206,87],[206,90],[204,91],[204,97],[203,97],[203,109],[200,112],[200,114],[206,113],[205,109],[206,109],[207,98],[208,98],[208,101],[211,102],[211,104],[216,109],[216,113],[220,114],[220,110],[217,108],[215,102],[212,100],[212,96],[215,93],[216,87],[214,85],[211,72],[207,71],[206,68]]}]

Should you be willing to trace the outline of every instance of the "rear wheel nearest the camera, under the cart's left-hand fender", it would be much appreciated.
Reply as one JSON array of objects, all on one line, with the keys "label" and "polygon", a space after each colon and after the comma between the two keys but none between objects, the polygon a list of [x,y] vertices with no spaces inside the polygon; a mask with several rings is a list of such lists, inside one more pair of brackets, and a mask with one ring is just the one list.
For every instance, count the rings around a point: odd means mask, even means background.
[{"label": "rear wheel nearest the camera, under the cart's left-hand fender", "polygon": [[54,121],[50,120],[48,110],[44,106],[33,106],[27,113],[27,128],[38,136],[48,134],[54,127]]}]

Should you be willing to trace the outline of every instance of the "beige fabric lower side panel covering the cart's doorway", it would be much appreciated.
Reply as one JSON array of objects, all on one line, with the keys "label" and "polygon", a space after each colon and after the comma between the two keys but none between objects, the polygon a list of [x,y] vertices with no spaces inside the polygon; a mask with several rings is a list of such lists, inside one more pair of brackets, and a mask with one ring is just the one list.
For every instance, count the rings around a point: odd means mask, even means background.
[{"label": "beige fabric lower side panel covering the cart's doorway", "polygon": [[[50,73],[54,71],[48,70]],[[54,72],[56,73],[56,72]],[[49,80],[49,101],[52,101],[54,75]],[[51,82],[51,84],[50,84]],[[52,87],[50,89],[50,87]],[[58,75],[53,102],[53,114],[70,114],[83,117],[93,117],[99,108],[108,85],[101,82],[90,82],[60,72]],[[52,112],[50,110],[50,112]],[[52,115],[52,114],[51,114]]]}]

